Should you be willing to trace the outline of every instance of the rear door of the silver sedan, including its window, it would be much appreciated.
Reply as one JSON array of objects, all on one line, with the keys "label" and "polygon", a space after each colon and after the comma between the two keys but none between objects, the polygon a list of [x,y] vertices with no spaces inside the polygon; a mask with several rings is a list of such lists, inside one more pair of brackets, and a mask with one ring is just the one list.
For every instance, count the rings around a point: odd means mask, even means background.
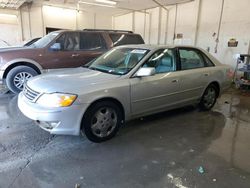
[{"label": "rear door of the silver sedan, including its window", "polygon": [[209,83],[213,64],[209,64],[204,54],[194,48],[179,48],[178,54],[180,101],[197,100]]}]

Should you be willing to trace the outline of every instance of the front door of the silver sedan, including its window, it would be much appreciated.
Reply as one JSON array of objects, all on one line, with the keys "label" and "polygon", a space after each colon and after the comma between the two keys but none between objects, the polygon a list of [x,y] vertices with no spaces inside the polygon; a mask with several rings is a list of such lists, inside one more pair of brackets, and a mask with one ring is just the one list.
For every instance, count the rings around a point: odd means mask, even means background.
[{"label": "front door of the silver sedan, including its window", "polygon": [[180,87],[176,72],[175,50],[157,51],[143,67],[154,67],[156,74],[130,79],[133,116],[161,111],[178,103],[175,93],[179,92]]}]

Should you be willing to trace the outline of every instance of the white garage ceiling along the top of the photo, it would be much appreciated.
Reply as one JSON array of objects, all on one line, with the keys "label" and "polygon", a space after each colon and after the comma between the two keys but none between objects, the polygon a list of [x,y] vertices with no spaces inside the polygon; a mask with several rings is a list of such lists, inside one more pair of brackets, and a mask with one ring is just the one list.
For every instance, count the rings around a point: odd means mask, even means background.
[{"label": "white garage ceiling along the top of the photo", "polygon": [[[103,1],[103,0],[102,0]],[[105,0],[104,0],[105,1]],[[100,0],[0,0],[0,8],[18,9],[22,4],[34,3],[41,5],[78,8],[92,12],[122,13],[124,11],[145,10],[161,5],[173,5],[193,0],[113,0],[116,4],[110,5]]]}]

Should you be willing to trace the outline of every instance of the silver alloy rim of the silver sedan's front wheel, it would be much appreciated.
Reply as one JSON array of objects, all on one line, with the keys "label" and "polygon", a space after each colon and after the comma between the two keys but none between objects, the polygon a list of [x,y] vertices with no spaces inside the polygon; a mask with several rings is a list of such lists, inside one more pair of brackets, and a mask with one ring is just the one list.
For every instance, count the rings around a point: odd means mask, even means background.
[{"label": "silver alloy rim of the silver sedan's front wheel", "polygon": [[101,138],[109,136],[116,126],[116,111],[109,107],[100,108],[91,119],[92,133]]}]

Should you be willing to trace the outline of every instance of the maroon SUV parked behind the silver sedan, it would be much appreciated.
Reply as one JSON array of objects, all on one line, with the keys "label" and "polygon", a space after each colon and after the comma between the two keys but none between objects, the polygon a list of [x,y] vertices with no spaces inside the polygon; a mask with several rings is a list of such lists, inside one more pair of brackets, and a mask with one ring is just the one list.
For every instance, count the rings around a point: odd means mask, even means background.
[{"label": "maroon SUV parked behind the silver sedan", "polygon": [[12,92],[18,93],[35,75],[84,65],[110,48],[125,44],[144,41],[131,31],[55,31],[29,47],[0,51],[0,84],[6,83]]}]

